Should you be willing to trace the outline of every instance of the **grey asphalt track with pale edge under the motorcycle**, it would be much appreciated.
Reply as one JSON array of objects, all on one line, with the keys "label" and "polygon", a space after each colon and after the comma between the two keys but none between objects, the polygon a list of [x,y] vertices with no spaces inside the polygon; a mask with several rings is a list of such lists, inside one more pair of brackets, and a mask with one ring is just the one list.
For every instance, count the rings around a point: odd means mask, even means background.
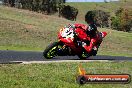
[{"label": "grey asphalt track with pale edge under the motorcycle", "polygon": [[45,59],[42,52],[0,50],[0,63],[47,63],[67,61],[132,61],[132,57],[97,55],[89,57],[86,60],[80,60],[77,56],[57,56],[53,59]]}]

